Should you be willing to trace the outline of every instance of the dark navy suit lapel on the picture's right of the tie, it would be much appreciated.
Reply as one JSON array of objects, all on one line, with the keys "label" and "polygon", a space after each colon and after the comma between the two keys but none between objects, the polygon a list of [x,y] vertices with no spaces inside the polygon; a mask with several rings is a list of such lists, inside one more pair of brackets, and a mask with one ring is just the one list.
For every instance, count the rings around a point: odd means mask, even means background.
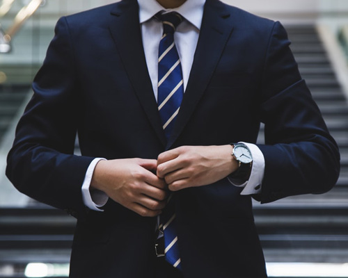
[{"label": "dark navy suit lapel on the picture's right of the tie", "polygon": [[180,136],[203,96],[232,30],[230,11],[219,1],[207,0],[189,82],[166,149]]}]

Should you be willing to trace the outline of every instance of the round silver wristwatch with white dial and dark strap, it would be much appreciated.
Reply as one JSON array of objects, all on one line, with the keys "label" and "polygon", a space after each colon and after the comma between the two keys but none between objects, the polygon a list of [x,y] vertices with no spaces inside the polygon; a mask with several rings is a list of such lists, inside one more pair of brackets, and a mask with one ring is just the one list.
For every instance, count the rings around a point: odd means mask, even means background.
[{"label": "round silver wristwatch with white dial and dark strap", "polygon": [[251,174],[251,167],[253,165],[253,156],[250,149],[243,143],[232,143],[232,156],[235,157],[238,163],[238,169],[230,174],[230,178],[247,181]]}]

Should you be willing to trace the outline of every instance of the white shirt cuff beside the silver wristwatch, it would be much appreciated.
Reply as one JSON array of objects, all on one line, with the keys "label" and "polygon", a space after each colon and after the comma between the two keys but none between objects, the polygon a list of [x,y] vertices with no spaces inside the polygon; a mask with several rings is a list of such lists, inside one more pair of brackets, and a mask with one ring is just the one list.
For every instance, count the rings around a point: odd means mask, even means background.
[{"label": "white shirt cuff beside the silver wristwatch", "polygon": [[264,156],[258,146],[246,142],[241,143],[245,144],[250,149],[251,155],[253,156],[253,166],[251,168],[250,177],[248,181],[243,184],[235,184],[230,179],[228,179],[228,181],[230,181],[234,186],[244,187],[241,195],[261,193],[262,179],[264,176]]}]

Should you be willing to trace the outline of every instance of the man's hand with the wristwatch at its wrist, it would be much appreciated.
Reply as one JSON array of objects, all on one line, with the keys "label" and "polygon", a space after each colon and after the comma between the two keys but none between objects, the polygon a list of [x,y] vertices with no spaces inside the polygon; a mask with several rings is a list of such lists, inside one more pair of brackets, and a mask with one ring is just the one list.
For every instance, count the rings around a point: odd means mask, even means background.
[{"label": "man's hand with the wristwatch at its wrist", "polygon": [[171,191],[206,186],[237,170],[232,146],[182,146],[159,154],[157,176]]}]

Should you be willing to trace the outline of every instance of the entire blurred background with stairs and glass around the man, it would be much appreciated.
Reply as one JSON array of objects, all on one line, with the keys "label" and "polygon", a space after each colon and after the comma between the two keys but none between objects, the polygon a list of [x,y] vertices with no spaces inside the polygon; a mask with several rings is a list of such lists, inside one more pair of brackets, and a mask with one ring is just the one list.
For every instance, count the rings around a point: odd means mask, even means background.
[{"label": "entire blurred background with stairs and glass around the man", "polygon": [[[0,277],[68,277],[75,219],[18,193],[4,174],[6,155],[57,19],[112,2],[0,0]],[[255,202],[269,277],[348,277],[348,1],[225,2],[285,25],[342,155],[329,193]]]}]

